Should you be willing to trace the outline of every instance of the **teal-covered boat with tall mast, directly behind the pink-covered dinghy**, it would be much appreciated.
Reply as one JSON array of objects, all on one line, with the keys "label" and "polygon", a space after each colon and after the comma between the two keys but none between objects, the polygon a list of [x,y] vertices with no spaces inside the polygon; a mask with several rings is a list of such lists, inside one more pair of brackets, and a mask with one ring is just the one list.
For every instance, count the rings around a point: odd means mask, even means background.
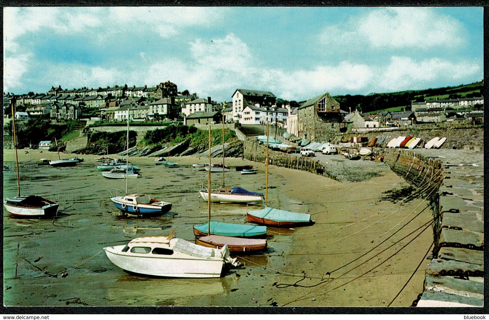
[{"label": "teal-covered boat with tall mast, directly behind the pink-covered dinghy", "polygon": [[[209,126],[209,163],[211,162],[211,127]],[[210,236],[210,235],[222,235],[229,237],[241,237],[241,238],[256,238],[266,237],[267,227],[263,226],[251,226],[251,225],[239,225],[223,222],[211,221],[211,171],[208,171],[207,177],[207,203],[209,207],[209,220],[206,224],[194,226],[194,235],[197,237]],[[209,200],[211,199],[211,200]],[[210,241],[210,239],[207,239]]]}]

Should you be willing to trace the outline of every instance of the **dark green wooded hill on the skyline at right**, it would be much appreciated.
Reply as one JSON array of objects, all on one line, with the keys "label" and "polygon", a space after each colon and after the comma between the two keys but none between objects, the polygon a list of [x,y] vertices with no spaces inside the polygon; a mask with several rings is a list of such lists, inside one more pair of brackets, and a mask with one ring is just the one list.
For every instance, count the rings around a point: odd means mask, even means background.
[{"label": "dark green wooded hill on the skyline at right", "polygon": [[369,93],[368,95],[336,95],[341,110],[363,113],[380,111],[410,110],[411,102],[422,102],[429,99],[456,99],[480,97],[484,95],[484,81],[456,87],[444,87],[425,90],[409,90],[388,93]]}]

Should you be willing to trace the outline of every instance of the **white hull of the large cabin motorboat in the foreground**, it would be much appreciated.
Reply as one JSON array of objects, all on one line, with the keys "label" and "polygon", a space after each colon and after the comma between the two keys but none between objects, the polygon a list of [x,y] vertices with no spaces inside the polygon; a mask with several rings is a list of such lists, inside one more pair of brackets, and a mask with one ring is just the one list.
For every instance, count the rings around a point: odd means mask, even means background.
[{"label": "white hull of the large cabin motorboat in the foreground", "polygon": [[[141,244],[144,247],[144,244]],[[218,278],[222,258],[203,258],[174,251],[171,255],[122,252],[125,245],[104,248],[107,257],[117,267],[137,273],[179,278]]]}]

